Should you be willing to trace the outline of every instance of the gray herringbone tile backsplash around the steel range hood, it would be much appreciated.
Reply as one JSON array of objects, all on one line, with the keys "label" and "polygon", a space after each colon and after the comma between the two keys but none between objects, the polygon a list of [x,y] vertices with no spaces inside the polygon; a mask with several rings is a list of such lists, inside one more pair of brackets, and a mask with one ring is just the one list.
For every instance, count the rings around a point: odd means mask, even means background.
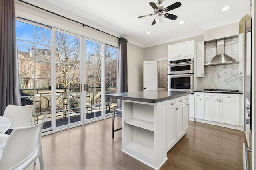
[{"label": "gray herringbone tile backsplash around the steel range hood", "polygon": [[[239,59],[238,38],[225,41],[225,53],[234,59]],[[206,43],[205,61],[216,55],[216,42]],[[236,89],[242,91],[243,77],[239,76],[238,64],[206,66],[205,77],[198,78],[198,89]]]}]

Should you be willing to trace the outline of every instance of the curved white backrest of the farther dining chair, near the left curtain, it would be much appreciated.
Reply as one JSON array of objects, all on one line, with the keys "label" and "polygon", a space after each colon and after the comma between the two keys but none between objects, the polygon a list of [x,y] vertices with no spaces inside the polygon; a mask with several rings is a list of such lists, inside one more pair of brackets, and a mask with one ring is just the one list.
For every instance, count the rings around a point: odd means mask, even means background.
[{"label": "curved white backrest of the farther dining chair, near the left curtain", "polygon": [[31,126],[33,105],[17,106],[9,104],[5,111],[4,117],[7,117],[11,121],[10,129],[17,127]]}]

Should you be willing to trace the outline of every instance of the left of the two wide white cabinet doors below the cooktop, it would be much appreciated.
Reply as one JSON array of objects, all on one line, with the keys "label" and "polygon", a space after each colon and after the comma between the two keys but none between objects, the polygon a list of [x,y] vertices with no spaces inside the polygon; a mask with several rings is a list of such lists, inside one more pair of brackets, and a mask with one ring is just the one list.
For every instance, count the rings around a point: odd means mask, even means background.
[{"label": "left of the two wide white cabinet doors below the cooktop", "polygon": [[202,119],[219,122],[219,100],[202,98]]}]

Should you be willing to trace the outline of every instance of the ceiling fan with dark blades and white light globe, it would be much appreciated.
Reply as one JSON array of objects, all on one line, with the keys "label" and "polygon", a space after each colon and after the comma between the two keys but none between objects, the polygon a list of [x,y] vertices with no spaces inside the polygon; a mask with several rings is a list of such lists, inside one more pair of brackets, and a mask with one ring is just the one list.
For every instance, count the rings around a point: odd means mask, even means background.
[{"label": "ceiling fan with dark blades and white light globe", "polygon": [[176,8],[179,8],[181,6],[180,2],[175,2],[174,4],[168,6],[167,8],[164,8],[163,6],[160,6],[162,4],[164,0],[156,0],[156,4],[158,4],[158,6],[154,3],[154,2],[150,2],[150,6],[152,8],[154,8],[154,13],[155,14],[148,14],[148,15],[144,15],[144,16],[139,16],[138,18],[142,18],[142,17],[146,17],[146,16],[153,16],[153,15],[157,15],[157,17],[154,19],[154,21],[152,22],[151,25],[154,25],[156,23],[161,23],[165,18],[169,18],[171,20],[176,20],[178,16],[173,15],[173,14],[168,14],[164,12],[168,12],[170,10],[174,10]]}]

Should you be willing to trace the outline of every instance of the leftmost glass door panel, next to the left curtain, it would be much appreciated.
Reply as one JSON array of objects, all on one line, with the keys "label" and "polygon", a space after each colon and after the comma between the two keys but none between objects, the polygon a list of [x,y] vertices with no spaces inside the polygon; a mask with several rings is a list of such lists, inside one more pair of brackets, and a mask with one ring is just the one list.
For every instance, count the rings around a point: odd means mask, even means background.
[{"label": "leftmost glass door panel, next to the left curtain", "polygon": [[[26,21],[28,22],[28,21]],[[16,21],[16,39],[22,105],[34,105],[32,125],[47,119],[43,131],[51,130],[51,28]]]}]

